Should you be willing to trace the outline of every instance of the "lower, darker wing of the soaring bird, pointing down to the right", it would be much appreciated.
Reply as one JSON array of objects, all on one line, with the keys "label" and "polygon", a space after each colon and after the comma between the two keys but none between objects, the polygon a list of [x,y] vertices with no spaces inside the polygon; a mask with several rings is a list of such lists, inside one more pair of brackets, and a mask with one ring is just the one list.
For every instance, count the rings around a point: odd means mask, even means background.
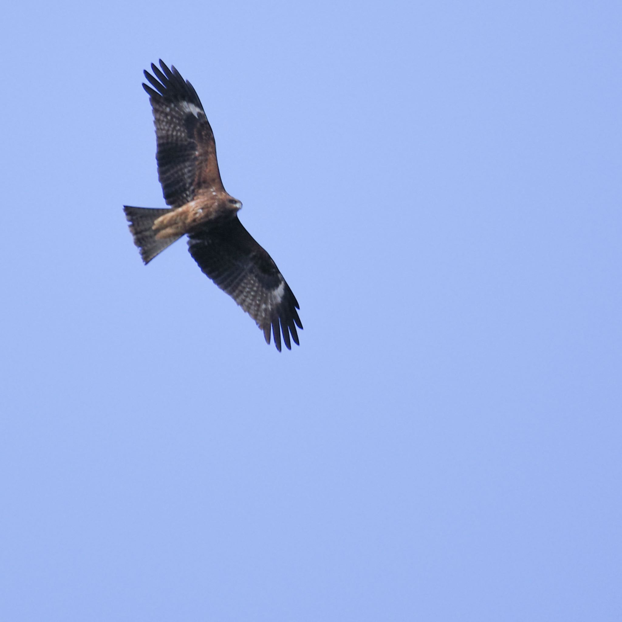
[{"label": "lower, darker wing of the soaring bird, pointing down to the right", "polygon": [[300,309],[271,256],[244,229],[238,217],[188,236],[188,250],[199,267],[229,294],[281,351],[281,332],[288,350],[290,334],[299,345]]}]

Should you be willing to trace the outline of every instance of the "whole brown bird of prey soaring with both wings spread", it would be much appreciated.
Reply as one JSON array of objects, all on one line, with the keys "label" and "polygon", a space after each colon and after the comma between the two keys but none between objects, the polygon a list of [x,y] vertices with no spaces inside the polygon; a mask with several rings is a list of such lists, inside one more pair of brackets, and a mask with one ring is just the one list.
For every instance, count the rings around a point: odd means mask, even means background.
[{"label": "whole brown bird of prey soaring with both wings spread", "polygon": [[[134,244],[148,264],[181,236],[202,271],[229,294],[281,351],[299,344],[299,304],[271,256],[238,220],[242,207],[223,187],[216,144],[197,91],[175,67],[144,72],[156,125],[157,171],[169,208],[124,206]],[[291,337],[291,338],[290,338]]]}]

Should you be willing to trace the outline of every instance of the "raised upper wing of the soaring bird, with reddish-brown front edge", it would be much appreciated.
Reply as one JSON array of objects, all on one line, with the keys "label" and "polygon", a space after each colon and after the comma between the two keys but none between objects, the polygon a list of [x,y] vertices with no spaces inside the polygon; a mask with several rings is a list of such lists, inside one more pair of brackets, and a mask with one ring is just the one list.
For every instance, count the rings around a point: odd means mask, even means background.
[{"label": "raised upper wing of the soaring bird, with reddish-brown front edge", "polygon": [[160,60],[144,72],[153,86],[149,93],[157,140],[157,170],[164,200],[181,207],[202,191],[224,190],[216,161],[216,144],[197,91],[180,73]]}]

